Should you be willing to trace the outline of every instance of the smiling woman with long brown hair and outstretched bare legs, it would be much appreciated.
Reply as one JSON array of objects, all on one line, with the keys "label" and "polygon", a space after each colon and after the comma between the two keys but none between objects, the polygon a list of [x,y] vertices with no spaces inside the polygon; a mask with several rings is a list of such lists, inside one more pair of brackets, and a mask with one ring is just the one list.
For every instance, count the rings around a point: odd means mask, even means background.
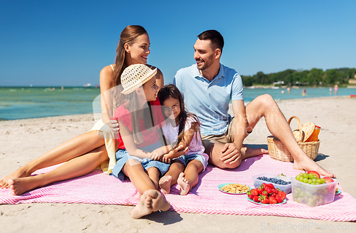
[{"label": "smiling woman with long brown hair and outstretched bare legs", "polygon": [[[120,34],[115,64],[105,66],[100,71],[102,120],[89,132],[68,140],[2,178],[1,188],[10,187],[14,195],[21,195],[37,187],[88,174],[105,161],[109,163],[106,162],[108,166],[104,171],[110,172],[115,166],[116,147],[112,137],[117,133],[117,123],[110,120],[113,109],[112,100],[108,98],[109,89],[120,85],[121,73],[127,66],[147,63],[149,46],[150,38],[142,26],[127,26]],[[163,86],[161,71],[158,70],[156,78],[157,85],[161,88]],[[66,163],[51,172],[31,176],[32,172],[38,169],[62,162]]]}]

